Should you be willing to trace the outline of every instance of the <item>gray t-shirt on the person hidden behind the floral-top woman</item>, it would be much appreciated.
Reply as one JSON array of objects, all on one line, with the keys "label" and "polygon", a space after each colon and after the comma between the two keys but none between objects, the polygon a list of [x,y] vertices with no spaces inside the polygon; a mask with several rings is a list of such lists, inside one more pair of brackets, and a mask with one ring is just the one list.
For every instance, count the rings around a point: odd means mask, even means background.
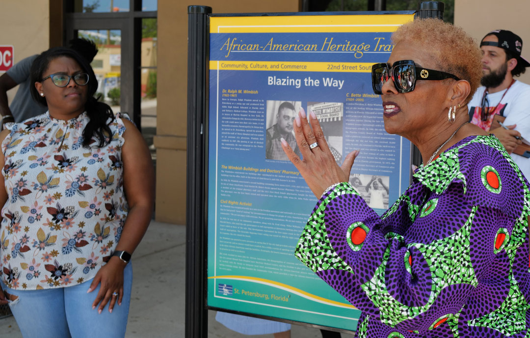
[{"label": "gray t-shirt on the person hidden behind the floral-top woman", "polygon": [[33,55],[22,59],[7,71],[7,75],[19,84],[19,90],[16,92],[15,97],[9,106],[16,123],[43,114],[48,110],[48,107],[41,106],[34,101],[30,93],[31,86],[35,85],[34,83],[30,83],[30,69],[33,60],[36,59],[37,56],[38,55]]}]

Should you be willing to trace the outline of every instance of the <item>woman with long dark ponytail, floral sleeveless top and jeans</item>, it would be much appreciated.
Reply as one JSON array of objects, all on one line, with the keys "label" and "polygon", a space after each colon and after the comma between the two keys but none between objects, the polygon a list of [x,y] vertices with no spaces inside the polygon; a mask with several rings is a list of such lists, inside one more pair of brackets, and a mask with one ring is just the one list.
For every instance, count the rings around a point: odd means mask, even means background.
[{"label": "woman with long dark ponytail, floral sleeveless top and jeans", "polygon": [[153,166],[138,129],[93,95],[68,48],[34,60],[45,114],[0,133],[0,299],[24,337],[123,337],[131,254],[153,212]]}]

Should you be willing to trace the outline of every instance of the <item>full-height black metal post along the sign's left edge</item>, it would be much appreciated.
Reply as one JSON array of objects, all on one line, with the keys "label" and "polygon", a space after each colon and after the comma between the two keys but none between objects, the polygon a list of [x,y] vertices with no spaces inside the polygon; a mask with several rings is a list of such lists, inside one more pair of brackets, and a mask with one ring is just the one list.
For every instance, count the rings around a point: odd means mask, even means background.
[{"label": "full-height black metal post along the sign's left edge", "polygon": [[188,7],[188,135],[185,336],[208,335],[206,310],[205,118],[207,20],[211,7]]}]

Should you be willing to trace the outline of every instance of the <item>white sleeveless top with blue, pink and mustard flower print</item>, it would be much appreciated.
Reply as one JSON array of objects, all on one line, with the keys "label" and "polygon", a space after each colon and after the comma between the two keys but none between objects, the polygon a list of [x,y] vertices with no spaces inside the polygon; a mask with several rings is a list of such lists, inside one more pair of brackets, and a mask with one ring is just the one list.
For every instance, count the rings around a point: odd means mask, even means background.
[{"label": "white sleeveless top with blue, pink and mustard flower print", "polygon": [[[11,289],[69,287],[94,278],[127,218],[117,115],[103,148],[84,148],[86,112],[48,112],[14,124],[2,142],[8,200],[2,208],[2,280]],[[93,142],[92,144],[97,144]]]}]

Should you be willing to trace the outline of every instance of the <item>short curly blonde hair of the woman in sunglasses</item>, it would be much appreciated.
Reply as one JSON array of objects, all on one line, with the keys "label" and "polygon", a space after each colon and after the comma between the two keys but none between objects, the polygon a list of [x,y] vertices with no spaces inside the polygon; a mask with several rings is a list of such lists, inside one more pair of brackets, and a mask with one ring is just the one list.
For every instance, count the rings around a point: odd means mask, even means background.
[{"label": "short curly blonde hair of the woman in sunglasses", "polygon": [[416,19],[405,23],[392,34],[392,43],[421,45],[438,65],[437,70],[467,80],[473,97],[482,77],[482,51],[479,45],[460,27],[438,19]]}]

